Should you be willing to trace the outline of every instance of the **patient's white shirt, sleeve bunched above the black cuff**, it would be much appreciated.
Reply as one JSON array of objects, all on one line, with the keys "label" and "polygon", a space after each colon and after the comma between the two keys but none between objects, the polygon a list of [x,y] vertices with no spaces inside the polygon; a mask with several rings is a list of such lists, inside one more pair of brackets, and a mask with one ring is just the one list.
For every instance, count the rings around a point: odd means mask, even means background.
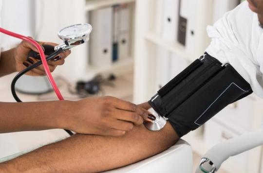
[{"label": "patient's white shirt, sleeve bunched above the black cuff", "polygon": [[208,26],[207,33],[211,43],[206,52],[223,64],[231,64],[263,97],[263,29],[248,2],[227,12],[214,26]]}]

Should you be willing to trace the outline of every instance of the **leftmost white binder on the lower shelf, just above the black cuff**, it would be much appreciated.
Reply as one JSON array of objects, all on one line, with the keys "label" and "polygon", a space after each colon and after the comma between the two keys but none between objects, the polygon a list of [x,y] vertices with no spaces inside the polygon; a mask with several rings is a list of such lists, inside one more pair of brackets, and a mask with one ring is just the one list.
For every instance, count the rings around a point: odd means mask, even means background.
[{"label": "leftmost white binder on the lower shelf, just above the black cuff", "polygon": [[169,82],[170,57],[171,53],[159,47],[157,50],[156,60],[156,89],[164,87]]}]

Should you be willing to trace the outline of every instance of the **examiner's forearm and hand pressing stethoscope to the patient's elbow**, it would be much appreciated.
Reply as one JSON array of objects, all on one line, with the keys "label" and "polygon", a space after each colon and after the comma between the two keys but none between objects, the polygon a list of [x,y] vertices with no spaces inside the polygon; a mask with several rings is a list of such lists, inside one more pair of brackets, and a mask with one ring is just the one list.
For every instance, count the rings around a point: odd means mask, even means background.
[{"label": "examiner's forearm and hand pressing stethoscope to the patient's elbow", "polygon": [[[105,96],[80,101],[0,102],[0,133],[61,128],[81,134],[121,136],[148,119],[148,111]],[[149,120],[150,121],[150,120]]]}]

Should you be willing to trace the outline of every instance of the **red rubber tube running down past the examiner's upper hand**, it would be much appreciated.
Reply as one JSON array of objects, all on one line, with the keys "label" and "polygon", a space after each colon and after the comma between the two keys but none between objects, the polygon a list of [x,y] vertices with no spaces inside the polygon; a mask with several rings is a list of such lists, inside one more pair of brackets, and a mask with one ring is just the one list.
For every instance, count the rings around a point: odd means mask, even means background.
[{"label": "red rubber tube running down past the examiner's upper hand", "polygon": [[47,77],[48,77],[48,80],[49,82],[51,83],[54,91],[56,92],[56,96],[59,100],[64,100],[63,96],[61,95],[57,85],[56,85],[56,82],[50,72],[50,69],[48,67],[48,64],[47,64],[47,60],[46,60],[46,57],[45,57],[45,54],[44,54],[44,51],[42,50],[41,46],[38,44],[37,41],[35,41],[34,39],[28,37],[28,36],[24,36],[24,35],[19,35],[19,34],[16,34],[16,33],[13,33],[11,31],[8,31],[8,30],[5,30],[3,28],[0,28],[0,32],[3,33],[3,34],[6,34],[6,35],[10,35],[10,36],[13,36],[13,37],[16,37],[16,38],[19,38],[19,39],[22,39],[24,41],[27,41],[31,44],[33,44],[37,49],[38,49],[38,52],[39,52],[39,55],[41,57],[41,61],[43,63],[43,67],[45,69],[45,72],[47,74]]}]

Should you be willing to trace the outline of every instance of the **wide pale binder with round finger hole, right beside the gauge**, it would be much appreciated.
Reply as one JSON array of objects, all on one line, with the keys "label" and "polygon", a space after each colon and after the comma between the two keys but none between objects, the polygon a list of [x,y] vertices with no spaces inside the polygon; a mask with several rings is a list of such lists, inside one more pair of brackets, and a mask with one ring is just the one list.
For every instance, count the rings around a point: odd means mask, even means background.
[{"label": "wide pale binder with round finger hole, right beside the gauge", "polygon": [[90,41],[91,65],[110,66],[113,52],[113,8],[103,8],[90,13],[93,26]]}]

